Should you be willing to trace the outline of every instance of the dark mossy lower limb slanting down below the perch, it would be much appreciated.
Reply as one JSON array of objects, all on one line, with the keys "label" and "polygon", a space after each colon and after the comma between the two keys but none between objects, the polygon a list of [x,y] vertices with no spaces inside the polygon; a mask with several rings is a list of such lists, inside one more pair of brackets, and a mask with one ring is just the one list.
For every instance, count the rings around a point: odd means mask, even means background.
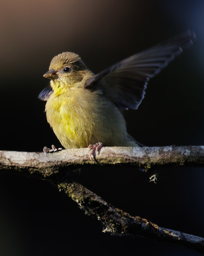
[{"label": "dark mossy lower limb slanting down below the perch", "polygon": [[157,241],[172,242],[204,254],[204,238],[161,228],[141,217],[133,217],[107,204],[101,197],[75,181],[60,182],[58,187],[71,197],[86,214],[100,220],[104,226],[103,232],[117,236],[143,236]]}]

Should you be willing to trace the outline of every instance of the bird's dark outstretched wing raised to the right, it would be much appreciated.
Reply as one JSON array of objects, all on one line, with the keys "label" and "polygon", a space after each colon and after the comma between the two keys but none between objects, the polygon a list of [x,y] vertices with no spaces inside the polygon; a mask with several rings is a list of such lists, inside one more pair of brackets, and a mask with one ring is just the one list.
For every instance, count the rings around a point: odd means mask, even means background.
[{"label": "bird's dark outstretched wing raised to the right", "polygon": [[120,109],[137,109],[149,79],[195,40],[195,33],[190,30],[174,36],[103,70],[87,80],[84,88],[100,91]]}]

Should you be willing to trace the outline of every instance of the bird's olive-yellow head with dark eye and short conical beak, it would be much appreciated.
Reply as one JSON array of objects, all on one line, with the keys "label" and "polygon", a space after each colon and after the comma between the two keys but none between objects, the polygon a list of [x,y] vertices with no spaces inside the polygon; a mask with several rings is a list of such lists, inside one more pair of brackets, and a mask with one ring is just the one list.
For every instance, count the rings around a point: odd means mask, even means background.
[{"label": "bird's olive-yellow head with dark eye and short conical beak", "polygon": [[53,91],[61,91],[73,88],[76,84],[79,86],[84,76],[91,74],[78,54],[62,52],[51,60],[49,71],[43,77],[51,79]]}]

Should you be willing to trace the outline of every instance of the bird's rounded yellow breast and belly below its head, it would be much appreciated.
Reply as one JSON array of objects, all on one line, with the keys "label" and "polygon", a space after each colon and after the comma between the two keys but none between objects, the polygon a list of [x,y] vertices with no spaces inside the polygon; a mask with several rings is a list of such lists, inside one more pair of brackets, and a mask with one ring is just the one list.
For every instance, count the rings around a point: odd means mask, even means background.
[{"label": "bird's rounded yellow breast and belly below its head", "polygon": [[46,104],[47,120],[65,148],[126,145],[126,124],[116,106],[84,88],[53,93]]}]

